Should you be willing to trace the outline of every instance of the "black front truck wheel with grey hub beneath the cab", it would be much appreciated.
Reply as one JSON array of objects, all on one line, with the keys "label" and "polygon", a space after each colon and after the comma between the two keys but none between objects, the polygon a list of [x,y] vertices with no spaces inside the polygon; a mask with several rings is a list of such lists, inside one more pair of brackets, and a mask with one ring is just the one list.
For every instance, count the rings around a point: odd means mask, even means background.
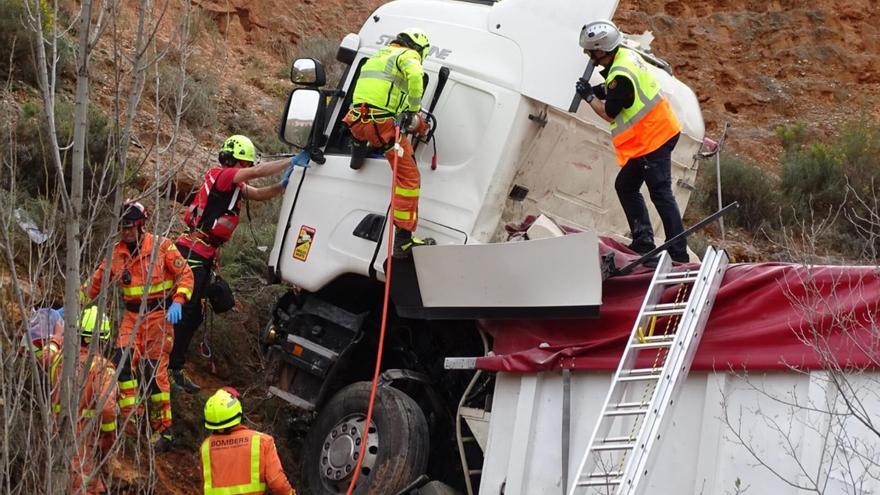
[{"label": "black front truck wheel with grey hub beneath the cab", "polygon": [[[337,392],[309,428],[302,453],[303,493],[346,492],[363,438],[370,387],[370,382],[357,382]],[[396,493],[425,472],[428,423],[413,399],[384,386],[376,393],[372,425],[354,494]]]}]

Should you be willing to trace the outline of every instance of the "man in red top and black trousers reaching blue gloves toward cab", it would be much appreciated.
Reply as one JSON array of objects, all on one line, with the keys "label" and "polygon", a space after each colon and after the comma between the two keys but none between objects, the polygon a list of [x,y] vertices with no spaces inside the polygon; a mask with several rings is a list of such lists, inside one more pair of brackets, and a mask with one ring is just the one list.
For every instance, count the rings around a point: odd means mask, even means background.
[{"label": "man in red top and black trousers reaching blue gloves toward cab", "polygon": [[[211,282],[217,251],[238,226],[241,200],[265,201],[282,194],[293,167],[308,166],[305,152],[290,160],[276,160],[255,167],[256,157],[254,144],[246,136],[230,136],[223,143],[218,154],[220,166],[205,174],[204,183],[183,217],[188,230],[176,242],[192,269],[194,288],[192,298],[183,305],[183,317],[174,325],[174,347],[168,369],[175,388],[190,393],[198,392],[200,387],[183,371],[186,353],[193,334],[205,317],[205,292]],[[249,180],[275,175],[285,167],[287,173],[277,184],[266,187],[247,185]]]}]

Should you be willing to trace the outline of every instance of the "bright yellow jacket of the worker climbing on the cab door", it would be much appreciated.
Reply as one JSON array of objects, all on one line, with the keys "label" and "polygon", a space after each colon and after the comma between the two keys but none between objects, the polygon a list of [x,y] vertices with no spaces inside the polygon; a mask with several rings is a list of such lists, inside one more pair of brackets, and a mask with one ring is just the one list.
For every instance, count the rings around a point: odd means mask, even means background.
[{"label": "bright yellow jacket of the worker climbing on the cab door", "polygon": [[353,109],[362,103],[397,115],[422,108],[422,61],[410,48],[390,45],[380,49],[361,67],[351,99]]}]

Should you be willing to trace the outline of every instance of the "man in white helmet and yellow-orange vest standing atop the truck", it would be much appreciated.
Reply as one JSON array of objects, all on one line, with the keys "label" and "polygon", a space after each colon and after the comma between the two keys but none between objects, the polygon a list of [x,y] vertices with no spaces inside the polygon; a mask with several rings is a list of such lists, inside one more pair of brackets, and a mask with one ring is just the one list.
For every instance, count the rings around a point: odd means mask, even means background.
[{"label": "man in white helmet and yellow-orange vest standing atop the truck", "polygon": [[[681,124],[660,92],[660,83],[645,60],[621,44],[623,35],[613,22],[599,20],[581,29],[584,53],[604,67],[605,82],[592,87],[581,78],[577,93],[599,117],[611,124],[611,136],[622,168],[614,188],[632,234],[629,247],[645,254],[655,248],[654,230],[639,190],[647,184],[669,240],[684,231],[681,212],[672,194],[672,150]],[[604,100],[604,101],[603,101]],[[674,261],[686,263],[687,240],[669,247]]]}]

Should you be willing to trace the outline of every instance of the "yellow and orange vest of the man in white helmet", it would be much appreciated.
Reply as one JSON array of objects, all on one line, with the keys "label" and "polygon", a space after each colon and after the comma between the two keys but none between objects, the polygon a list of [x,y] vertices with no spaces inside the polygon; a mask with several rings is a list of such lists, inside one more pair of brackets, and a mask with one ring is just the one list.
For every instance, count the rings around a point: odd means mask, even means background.
[{"label": "yellow and orange vest of the man in white helmet", "polygon": [[617,163],[622,167],[631,158],[647,155],[663,146],[681,132],[681,124],[641,55],[620,47],[608,70],[605,86],[613,88],[617,77],[629,79],[635,90],[633,104],[611,122]]}]

